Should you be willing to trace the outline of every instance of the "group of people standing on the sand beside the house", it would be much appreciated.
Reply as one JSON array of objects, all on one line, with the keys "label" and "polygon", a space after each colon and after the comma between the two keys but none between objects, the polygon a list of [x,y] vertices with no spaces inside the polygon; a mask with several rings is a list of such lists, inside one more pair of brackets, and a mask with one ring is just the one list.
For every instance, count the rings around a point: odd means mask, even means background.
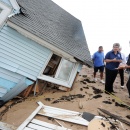
[{"label": "group of people standing on the sand beside the house", "polygon": [[[121,88],[124,88],[124,70],[130,68],[126,64],[126,57],[121,53],[121,46],[119,43],[113,44],[113,49],[104,56],[103,47],[99,46],[98,51],[92,56],[94,64],[94,81],[97,81],[96,73],[100,71],[100,82],[105,84],[105,93],[113,94],[113,83],[119,73],[121,79]],[[105,81],[103,80],[103,73],[105,68]],[[128,91],[130,90],[130,78],[127,82]],[[129,91],[130,98],[130,91]]]}]

